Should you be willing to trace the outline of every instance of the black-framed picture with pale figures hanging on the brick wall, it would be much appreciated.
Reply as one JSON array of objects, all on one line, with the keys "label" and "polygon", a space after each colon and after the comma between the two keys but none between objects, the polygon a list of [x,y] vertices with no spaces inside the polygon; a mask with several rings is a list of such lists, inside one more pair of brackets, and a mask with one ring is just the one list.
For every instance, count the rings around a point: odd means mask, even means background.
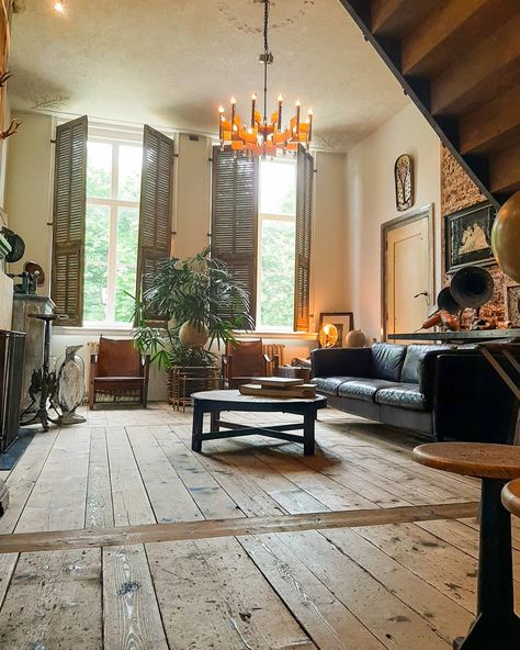
[{"label": "black-framed picture with pale figures hanging on the brick wall", "polygon": [[467,265],[494,264],[491,227],[495,216],[495,209],[487,202],[445,216],[446,273]]}]

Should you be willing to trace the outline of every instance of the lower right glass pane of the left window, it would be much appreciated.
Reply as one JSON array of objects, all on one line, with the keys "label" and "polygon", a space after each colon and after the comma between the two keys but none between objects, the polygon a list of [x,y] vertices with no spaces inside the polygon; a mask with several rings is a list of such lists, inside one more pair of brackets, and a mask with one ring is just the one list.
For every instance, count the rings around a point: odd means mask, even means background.
[{"label": "lower right glass pane of the left window", "polygon": [[120,208],[117,212],[117,254],[115,265],[115,322],[129,323],[135,295],[137,271],[137,235],[139,211],[136,208]]}]

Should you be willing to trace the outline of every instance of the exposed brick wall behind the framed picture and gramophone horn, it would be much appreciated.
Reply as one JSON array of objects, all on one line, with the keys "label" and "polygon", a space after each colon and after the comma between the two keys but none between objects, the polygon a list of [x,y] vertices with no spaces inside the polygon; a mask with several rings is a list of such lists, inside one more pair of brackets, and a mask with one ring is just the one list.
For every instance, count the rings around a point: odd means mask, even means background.
[{"label": "exposed brick wall behind the framed picture and gramophone horn", "polygon": [[[444,146],[441,146],[441,247],[443,285],[450,283],[450,277],[445,274],[444,216],[485,200],[486,197],[481,193],[450,152]],[[505,288],[516,284],[516,282],[502,273],[498,265],[486,267],[486,269],[493,276],[495,291],[491,300],[482,307],[481,314],[484,317],[494,316],[497,321],[504,321],[506,311]]]}]

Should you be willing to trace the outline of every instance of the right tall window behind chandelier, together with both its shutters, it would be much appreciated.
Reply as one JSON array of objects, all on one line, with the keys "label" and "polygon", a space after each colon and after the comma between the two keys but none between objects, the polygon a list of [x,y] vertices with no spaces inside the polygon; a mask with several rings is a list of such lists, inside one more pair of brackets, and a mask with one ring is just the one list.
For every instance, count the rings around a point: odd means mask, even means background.
[{"label": "right tall window behind chandelier, together with both its shutters", "polygon": [[[256,328],[308,332],[314,161],[213,148],[212,255],[250,296]],[[223,313],[222,317],[230,314]]]}]

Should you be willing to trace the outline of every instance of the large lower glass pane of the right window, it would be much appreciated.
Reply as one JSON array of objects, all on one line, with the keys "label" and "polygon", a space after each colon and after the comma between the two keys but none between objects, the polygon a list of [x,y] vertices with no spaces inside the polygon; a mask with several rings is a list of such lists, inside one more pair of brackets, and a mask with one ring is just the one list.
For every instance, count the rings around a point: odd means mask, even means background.
[{"label": "large lower glass pane of the right window", "polygon": [[293,327],[294,239],[292,221],[262,220],[260,268],[260,323]]}]

